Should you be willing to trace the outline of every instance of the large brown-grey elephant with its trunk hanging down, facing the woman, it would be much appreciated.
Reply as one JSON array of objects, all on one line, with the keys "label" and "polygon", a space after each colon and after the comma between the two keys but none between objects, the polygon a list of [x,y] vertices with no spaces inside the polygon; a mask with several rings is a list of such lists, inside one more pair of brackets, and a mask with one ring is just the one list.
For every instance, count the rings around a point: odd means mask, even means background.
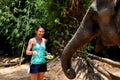
[{"label": "large brown-grey elephant with its trunk hanging down, facing the woman", "polygon": [[120,44],[120,0],[94,0],[91,3],[61,55],[61,66],[67,78],[76,77],[71,67],[73,54],[93,39],[96,39],[95,52]]}]

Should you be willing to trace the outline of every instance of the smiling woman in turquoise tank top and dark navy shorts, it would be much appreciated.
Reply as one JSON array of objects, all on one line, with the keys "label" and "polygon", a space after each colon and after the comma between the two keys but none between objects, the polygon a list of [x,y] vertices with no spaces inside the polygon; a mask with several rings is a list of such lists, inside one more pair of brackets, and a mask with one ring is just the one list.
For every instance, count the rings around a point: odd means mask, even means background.
[{"label": "smiling woman in turquoise tank top and dark navy shorts", "polygon": [[44,58],[47,40],[43,38],[45,29],[37,27],[35,33],[36,36],[28,42],[26,54],[32,55],[30,61],[31,80],[43,80],[44,74],[47,71],[47,64]]}]

